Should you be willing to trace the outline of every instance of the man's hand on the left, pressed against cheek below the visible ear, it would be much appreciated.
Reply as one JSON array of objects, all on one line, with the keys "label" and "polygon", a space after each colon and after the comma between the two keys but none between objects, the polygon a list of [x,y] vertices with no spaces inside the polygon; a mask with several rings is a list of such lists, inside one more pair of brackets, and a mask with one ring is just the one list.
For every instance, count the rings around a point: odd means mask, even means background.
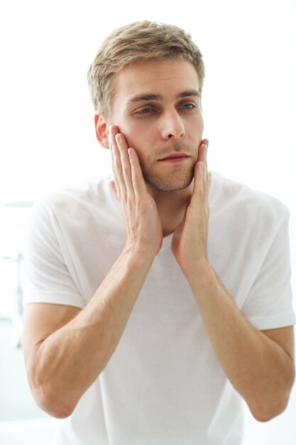
[{"label": "man's hand on the left, pressed against cheek below the visible ear", "polygon": [[163,243],[163,230],[155,200],[147,190],[136,150],[128,148],[124,134],[109,127],[114,171],[113,186],[126,227],[126,249],[155,257]]}]

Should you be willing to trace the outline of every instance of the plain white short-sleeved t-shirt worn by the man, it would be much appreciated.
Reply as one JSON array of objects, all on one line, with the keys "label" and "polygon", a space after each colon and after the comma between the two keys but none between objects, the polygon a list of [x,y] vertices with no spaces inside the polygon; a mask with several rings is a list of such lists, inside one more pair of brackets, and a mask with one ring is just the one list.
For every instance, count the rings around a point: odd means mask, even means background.
[{"label": "plain white short-sleeved t-shirt worn by the man", "polygon": [[[258,329],[293,325],[287,208],[214,172],[209,204],[209,262],[236,305]],[[163,240],[114,355],[61,421],[56,444],[241,443],[241,397],[212,349],[171,239]],[[83,308],[124,241],[108,178],[43,200],[28,237],[26,303]]]}]

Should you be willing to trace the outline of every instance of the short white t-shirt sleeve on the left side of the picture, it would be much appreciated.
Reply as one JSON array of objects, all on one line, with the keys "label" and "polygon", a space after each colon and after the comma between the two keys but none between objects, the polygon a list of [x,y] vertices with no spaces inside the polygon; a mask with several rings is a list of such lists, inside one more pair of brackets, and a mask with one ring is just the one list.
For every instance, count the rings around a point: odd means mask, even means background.
[{"label": "short white t-shirt sleeve on the left side of the picture", "polygon": [[24,304],[85,306],[67,268],[59,238],[60,226],[50,203],[38,203],[32,211],[26,240]]}]

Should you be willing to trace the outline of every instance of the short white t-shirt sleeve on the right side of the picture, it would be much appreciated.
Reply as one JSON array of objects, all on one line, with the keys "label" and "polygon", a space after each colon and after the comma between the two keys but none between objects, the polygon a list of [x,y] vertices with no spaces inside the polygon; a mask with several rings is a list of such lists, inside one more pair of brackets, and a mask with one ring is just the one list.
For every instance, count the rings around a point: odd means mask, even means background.
[{"label": "short white t-shirt sleeve on the right side of the picture", "polygon": [[258,277],[242,308],[256,328],[283,328],[295,324],[290,275],[289,213],[285,208],[280,227],[270,240]]}]

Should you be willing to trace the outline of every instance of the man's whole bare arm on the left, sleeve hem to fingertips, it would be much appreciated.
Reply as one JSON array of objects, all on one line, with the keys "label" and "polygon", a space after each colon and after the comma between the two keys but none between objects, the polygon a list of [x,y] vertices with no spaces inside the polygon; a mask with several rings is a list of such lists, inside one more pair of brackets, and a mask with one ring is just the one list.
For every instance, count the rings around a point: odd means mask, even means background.
[{"label": "man's whole bare arm on the left, sleeve hem to fingertips", "polygon": [[[126,224],[126,245],[84,309],[52,304],[26,307],[23,352],[36,402],[67,417],[114,353],[155,254],[163,240],[136,153],[128,160],[111,136],[116,194]],[[120,152],[121,151],[121,152]]]}]

